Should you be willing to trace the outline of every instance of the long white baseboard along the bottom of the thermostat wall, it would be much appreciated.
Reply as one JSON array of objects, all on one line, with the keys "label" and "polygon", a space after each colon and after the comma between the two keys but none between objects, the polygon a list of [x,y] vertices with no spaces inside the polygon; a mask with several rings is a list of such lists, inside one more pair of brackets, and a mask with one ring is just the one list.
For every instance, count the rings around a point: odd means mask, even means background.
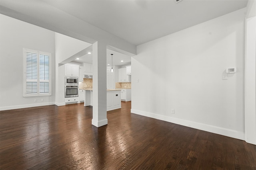
[{"label": "long white baseboard along the bottom of the thermostat wall", "polygon": [[163,120],[163,121],[168,121],[170,123],[175,123],[175,124],[183,125],[183,126],[186,126],[186,127],[192,127],[194,129],[199,129],[199,130],[202,130],[202,131],[216,133],[216,134],[224,135],[224,136],[227,136],[227,137],[232,137],[232,138],[244,140],[244,133],[243,132],[234,131],[232,129],[226,129],[226,128],[223,128],[223,127],[207,125],[207,124],[204,124],[204,123],[188,121],[188,120],[179,119],[179,118],[175,118],[175,117],[168,117],[168,116],[159,115],[159,114],[156,114],[156,113],[150,113],[150,112],[146,112],[146,111],[140,111],[140,110],[136,110],[136,109],[131,109],[131,113],[135,113],[135,114],[138,114],[138,115],[151,117],[151,118],[159,119],[159,120]]}]

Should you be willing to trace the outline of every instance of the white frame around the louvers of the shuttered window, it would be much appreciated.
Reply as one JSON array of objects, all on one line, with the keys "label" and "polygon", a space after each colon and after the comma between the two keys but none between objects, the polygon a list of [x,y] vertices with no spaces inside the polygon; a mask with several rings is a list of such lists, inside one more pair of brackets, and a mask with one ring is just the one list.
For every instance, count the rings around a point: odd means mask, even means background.
[{"label": "white frame around the louvers of the shuttered window", "polygon": [[[36,94],[27,94],[26,93],[26,53],[31,52],[31,53],[36,53],[37,54],[37,80],[34,82],[37,82],[37,93]],[[40,81],[40,54],[41,55],[47,55],[49,56],[49,93],[40,93],[40,82],[45,82],[45,80]],[[52,67],[51,67],[51,53],[48,52],[43,52],[43,51],[38,51],[38,50],[33,50],[33,49],[26,49],[23,48],[23,97],[41,97],[41,96],[51,96],[52,94]],[[32,80],[33,82],[33,80]],[[48,81],[47,81],[48,82]]]}]

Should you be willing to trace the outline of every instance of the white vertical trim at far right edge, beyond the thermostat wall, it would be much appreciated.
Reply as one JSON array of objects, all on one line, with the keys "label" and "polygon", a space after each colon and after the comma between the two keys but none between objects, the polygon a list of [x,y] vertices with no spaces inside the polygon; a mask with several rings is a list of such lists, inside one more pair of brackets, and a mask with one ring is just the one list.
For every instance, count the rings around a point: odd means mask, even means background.
[{"label": "white vertical trim at far right edge, beyond the thermostat wall", "polygon": [[256,17],[246,19],[245,37],[244,138],[256,145]]}]

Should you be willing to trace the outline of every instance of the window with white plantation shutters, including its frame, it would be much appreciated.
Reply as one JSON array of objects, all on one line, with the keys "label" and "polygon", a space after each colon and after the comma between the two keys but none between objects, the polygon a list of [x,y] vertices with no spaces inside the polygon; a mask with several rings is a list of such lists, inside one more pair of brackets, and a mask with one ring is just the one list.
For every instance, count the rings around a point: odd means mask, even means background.
[{"label": "window with white plantation shutters, including its frame", "polygon": [[24,97],[50,96],[51,54],[24,49]]}]

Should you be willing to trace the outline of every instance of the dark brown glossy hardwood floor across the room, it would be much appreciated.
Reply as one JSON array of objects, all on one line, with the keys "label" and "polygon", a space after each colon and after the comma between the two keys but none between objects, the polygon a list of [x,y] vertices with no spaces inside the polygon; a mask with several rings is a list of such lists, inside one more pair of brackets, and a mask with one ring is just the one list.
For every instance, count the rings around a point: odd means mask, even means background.
[{"label": "dark brown glossy hardwood floor across the room", "polygon": [[83,104],[0,111],[0,169],[256,170],[255,145],[130,108],[108,111],[100,128]]}]

